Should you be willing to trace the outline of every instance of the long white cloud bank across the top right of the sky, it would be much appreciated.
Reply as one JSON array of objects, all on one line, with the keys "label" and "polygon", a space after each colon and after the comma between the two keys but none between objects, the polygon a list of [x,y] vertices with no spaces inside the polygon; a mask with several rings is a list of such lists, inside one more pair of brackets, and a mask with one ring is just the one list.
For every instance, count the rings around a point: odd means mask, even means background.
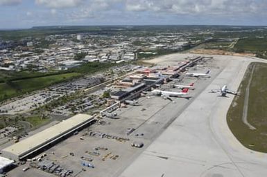
[{"label": "long white cloud bank across the top right of the sky", "polygon": [[264,0],[135,0],[126,1],[126,10],[173,13],[176,15],[236,15],[264,12]]}]

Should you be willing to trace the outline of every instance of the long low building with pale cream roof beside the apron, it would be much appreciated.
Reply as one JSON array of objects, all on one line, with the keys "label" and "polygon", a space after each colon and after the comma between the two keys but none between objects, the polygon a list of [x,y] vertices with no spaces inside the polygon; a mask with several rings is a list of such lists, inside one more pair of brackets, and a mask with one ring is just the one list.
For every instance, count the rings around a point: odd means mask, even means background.
[{"label": "long low building with pale cream roof beside the apron", "polygon": [[53,143],[62,140],[70,133],[85,127],[85,125],[94,121],[92,115],[78,114],[67,120],[55,124],[54,126],[40,131],[35,135],[21,140],[20,142],[1,150],[2,156],[12,160],[21,160],[31,156],[36,151],[44,149]]}]

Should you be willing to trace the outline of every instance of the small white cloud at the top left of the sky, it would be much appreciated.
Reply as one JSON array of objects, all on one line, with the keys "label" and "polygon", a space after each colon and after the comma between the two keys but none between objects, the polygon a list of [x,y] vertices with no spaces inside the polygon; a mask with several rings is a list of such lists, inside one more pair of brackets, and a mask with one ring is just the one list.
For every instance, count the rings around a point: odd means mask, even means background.
[{"label": "small white cloud at the top left of the sky", "polygon": [[74,8],[83,4],[85,0],[35,0],[35,3],[48,8]]}]

